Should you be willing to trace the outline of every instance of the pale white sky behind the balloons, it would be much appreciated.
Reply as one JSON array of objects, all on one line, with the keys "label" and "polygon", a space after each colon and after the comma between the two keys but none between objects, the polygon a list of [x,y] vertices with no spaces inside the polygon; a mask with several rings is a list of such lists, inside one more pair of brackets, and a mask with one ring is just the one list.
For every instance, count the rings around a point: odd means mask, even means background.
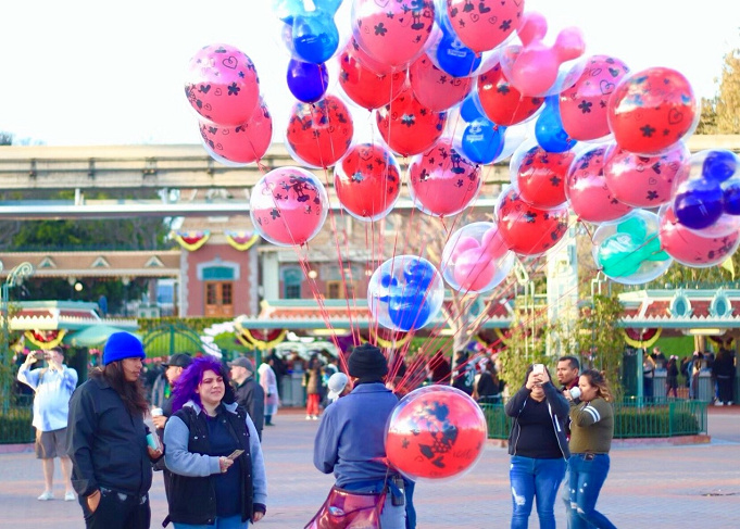
[{"label": "pale white sky behind the balloons", "polygon": [[[201,47],[228,43],[254,62],[274,140],[281,141],[294,99],[285,81],[283,23],[271,3],[5,2],[0,130],[48,146],[200,143],[184,91],[187,64]],[[344,35],[351,3],[344,0],[335,18]],[[614,55],[634,72],[678,70],[699,97],[714,96],[723,55],[740,48],[740,2],[732,0],[525,0],[525,9],[545,16],[549,36],[580,28],[587,54]],[[338,90],[335,75],[329,91]],[[369,126],[367,112],[354,115],[355,128]]]}]

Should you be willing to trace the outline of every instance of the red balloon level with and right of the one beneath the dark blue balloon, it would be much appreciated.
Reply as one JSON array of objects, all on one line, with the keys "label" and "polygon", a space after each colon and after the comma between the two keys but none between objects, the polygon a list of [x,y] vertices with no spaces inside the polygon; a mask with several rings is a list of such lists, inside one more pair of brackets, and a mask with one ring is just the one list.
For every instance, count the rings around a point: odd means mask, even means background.
[{"label": "red balloon level with and right of the one beneath the dark blue balloon", "polygon": [[411,86],[378,109],[375,118],[382,139],[402,156],[421,154],[437,143],[447,124],[447,113],[435,112],[419,103]]}]

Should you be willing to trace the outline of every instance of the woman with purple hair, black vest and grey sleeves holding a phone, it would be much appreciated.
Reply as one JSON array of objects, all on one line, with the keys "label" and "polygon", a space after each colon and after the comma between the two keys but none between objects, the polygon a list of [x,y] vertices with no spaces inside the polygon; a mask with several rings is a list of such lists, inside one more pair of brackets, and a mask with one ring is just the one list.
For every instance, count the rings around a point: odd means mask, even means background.
[{"label": "woman with purple hair, black vest and grey sleeves holding a phone", "polygon": [[177,380],[164,428],[165,464],[173,473],[165,524],[175,529],[242,529],[267,509],[260,438],[238,406],[228,370],[196,358]]}]

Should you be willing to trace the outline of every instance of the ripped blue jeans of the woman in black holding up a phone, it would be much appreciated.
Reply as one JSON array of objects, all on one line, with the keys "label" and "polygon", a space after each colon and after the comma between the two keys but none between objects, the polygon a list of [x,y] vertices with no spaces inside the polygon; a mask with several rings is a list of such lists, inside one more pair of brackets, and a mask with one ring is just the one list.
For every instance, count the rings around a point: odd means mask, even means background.
[{"label": "ripped blue jeans of the woman in black holding up a phone", "polygon": [[512,483],[512,529],[526,529],[532,501],[541,529],[555,528],[555,499],[565,474],[565,459],[535,459],[513,455],[509,478]]}]

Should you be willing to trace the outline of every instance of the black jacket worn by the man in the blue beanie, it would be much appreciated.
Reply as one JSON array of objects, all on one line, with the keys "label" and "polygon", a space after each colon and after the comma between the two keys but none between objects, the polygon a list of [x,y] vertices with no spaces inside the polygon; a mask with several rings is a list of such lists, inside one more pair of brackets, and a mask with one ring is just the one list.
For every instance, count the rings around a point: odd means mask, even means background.
[{"label": "black jacket worn by the man in the blue beanie", "polygon": [[143,495],[152,484],[142,415],[133,416],[104,378],[91,377],[70,400],[67,455],[80,496],[106,487]]}]

